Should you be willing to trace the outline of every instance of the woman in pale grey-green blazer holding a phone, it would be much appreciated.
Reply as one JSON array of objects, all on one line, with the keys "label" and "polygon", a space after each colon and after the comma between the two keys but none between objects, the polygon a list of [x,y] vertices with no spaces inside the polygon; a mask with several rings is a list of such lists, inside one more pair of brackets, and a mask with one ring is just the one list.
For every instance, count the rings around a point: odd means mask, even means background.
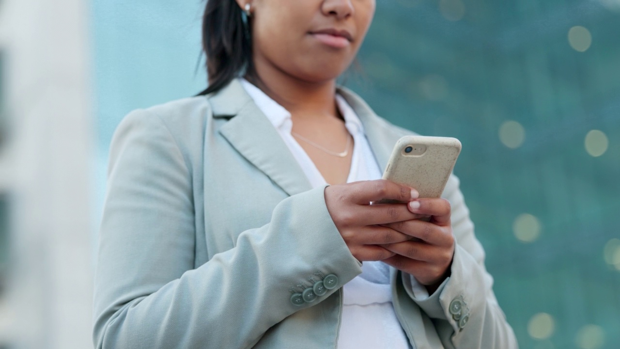
[{"label": "woman in pale grey-green blazer holding a phone", "polygon": [[410,132],[336,86],[374,6],[208,1],[204,96],[112,141],[97,347],[516,347],[458,180],[377,180]]}]

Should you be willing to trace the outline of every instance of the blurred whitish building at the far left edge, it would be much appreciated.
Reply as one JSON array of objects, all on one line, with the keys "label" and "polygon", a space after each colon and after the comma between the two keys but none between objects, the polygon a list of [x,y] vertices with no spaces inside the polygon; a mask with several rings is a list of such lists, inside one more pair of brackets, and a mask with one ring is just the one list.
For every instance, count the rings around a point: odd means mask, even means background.
[{"label": "blurred whitish building at the far left edge", "polygon": [[92,347],[87,3],[0,0],[0,348]]}]

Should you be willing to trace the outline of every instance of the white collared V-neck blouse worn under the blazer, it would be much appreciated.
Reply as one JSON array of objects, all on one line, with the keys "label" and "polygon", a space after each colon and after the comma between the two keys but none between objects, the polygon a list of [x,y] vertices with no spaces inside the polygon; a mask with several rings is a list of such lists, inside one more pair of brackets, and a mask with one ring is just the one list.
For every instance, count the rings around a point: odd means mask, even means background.
[{"label": "white collared V-neck blouse worn under the blazer", "polygon": [[[293,128],[291,114],[246,79],[241,79],[241,83],[260,111],[278,130],[308,177],[312,188],[324,186],[325,179],[291,135]],[[381,170],[366,140],[360,119],[343,97],[337,95],[336,102],[344,117],[345,127],[352,135],[354,142],[347,183],[381,178]],[[415,283],[414,278],[412,281]],[[426,289],[420,287],[420,284],[415,283],[412,286],[418,298],[428,297]],[[362,265],[362,273],[343,286],[342,322],[338,348],[411,348],[392,306],[389,267],[385,263],[365,261]]]}]

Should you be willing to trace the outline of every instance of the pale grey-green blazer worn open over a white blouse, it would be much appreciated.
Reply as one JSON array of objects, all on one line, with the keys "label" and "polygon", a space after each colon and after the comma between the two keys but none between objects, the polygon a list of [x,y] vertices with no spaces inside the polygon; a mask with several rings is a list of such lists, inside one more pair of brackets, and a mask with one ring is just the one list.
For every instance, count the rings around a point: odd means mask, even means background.
[{"label": "pale grey-green blazer worn open over a white blouse", "polygon": [[[411,132],[339,93],[379,165]],[[452,177],[451,276],[425,300],[392,270],[413,348],[516,348]],[[131,112],[110,149],[95,276],[97,348],[335,348],[342,286],[361,273],[273,125],[239,81]],[[325,283],[320,283],[325,281]],[[312,302],[314,284],[330,289]],[[319,292],[322,293],[322,292]],[[293,304],[298,303],[298,304]]]}]

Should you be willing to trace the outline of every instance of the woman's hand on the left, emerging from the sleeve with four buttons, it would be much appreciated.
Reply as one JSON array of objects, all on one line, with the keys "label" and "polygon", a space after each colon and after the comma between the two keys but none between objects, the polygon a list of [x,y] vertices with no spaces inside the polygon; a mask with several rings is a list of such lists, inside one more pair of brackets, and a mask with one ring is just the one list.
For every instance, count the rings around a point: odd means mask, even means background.
[{"label": "woman's hand on the left, emerging from the sleeve with four buttons", "polygon": [[389,248],[397,248],[411,236],[399,232],[389,224],[422,217],[410,212],[407,204],[378,204],[373,201],[390,199],[409,202],[418,193],[408,186],[379,179],[328,186],[325,204],[343,240],[359,261],[378,261],[396,255]]}]

